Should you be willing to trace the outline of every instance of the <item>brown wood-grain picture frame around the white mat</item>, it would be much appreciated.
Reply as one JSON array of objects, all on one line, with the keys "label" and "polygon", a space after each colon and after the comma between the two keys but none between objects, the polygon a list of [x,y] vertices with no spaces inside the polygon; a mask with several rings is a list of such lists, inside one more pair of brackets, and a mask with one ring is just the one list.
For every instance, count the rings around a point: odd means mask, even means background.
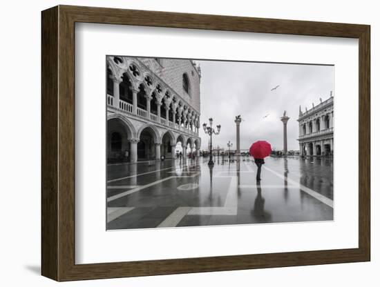
[{"label": "brown wood-grain picture frame around the white mat", "polygon": [[[370,261],[370,26],[56,6],[42,12],[41,273],[57,281]],[[359,39],[359,248],[75,264],[75,23]]]}]

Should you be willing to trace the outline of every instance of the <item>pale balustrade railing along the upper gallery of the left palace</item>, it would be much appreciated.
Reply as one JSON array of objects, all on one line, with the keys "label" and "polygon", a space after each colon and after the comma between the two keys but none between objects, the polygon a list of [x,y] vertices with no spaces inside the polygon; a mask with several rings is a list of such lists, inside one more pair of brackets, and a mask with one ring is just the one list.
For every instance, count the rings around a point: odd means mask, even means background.
[{"label": "pale balustrade railing along the upper gallery of the left palace", "polygon": [[[117,103],[115,103],[115,98],[113,96],[107,95],[107,105],[116,108]],[[131,105],[131,103],[127,103],[126,101],[123,101],[122,99],[119,99],[118,108],[119,110],[133,114],[133,105]],[[148,119],[148,112],[142,108],[137,108],[137,116]],[[187,132],[188,134],[198,136],[198,132],[184,128],[183,126],[178,125],[178,123],[173,123],[173,121],[167,121],[167,119],[163,119],[162,117],[160,117],[160,121],[158,121],[158,115],[154,115],[151,113],[149,115],[149,119],[151,121],[158,122],[164,126],[169,126],[170,128],[174,128],[175,130],[182,130],[184,132]]]}]

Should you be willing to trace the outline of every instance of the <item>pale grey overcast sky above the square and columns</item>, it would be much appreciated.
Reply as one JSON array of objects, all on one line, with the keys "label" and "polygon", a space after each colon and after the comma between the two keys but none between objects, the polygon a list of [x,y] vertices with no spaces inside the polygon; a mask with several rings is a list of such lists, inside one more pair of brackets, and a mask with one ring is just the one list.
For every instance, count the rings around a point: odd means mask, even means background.
[{"label": "pale grey overcast sky above the square and columns", "polygon": [[[265,139],[272,149],[283,149],[284,110],[287,123],[288,150],[298,150],[298,111],[312,108],[334,95],[334,67],[278,63],[245,63],[231,61],[197,61],[200,63],[200,131],[202,149],[207,149],[209,136],[202,123],[222,126],[213,136],[213,146],[236,148],[236,115],[241,115],[240,148],[247,149],[254,141]],[[272,88],[280,85],[276,90]],[[265,117],[265,115],[268,115]],[[265,117],[265,118],[264,118]]]}]

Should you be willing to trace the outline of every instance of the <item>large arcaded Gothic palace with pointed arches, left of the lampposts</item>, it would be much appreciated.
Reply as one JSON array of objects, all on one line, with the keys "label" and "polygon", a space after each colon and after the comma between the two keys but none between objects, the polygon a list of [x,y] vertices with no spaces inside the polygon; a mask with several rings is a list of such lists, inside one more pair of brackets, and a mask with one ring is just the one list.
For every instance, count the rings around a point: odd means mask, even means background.
[{"label": "large arcaded Gothic palace with pointed arches, left of the lampposts", "polygon": [[200,67],[191,60],[106,57],[108,162],[200,150]]}]

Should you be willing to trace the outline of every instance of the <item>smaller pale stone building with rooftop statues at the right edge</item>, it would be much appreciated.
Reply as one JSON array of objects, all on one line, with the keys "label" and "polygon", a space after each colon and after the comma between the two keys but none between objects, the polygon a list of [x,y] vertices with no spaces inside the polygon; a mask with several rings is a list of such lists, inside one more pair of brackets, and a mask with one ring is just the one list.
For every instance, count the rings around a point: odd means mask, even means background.
[{"label": "smaller pale stone building with rooftop statues at the right edge", "polygon": [[332,156],[334,153],[334,97],[322,101],[305,112],[299,110],[300,155]]}]

